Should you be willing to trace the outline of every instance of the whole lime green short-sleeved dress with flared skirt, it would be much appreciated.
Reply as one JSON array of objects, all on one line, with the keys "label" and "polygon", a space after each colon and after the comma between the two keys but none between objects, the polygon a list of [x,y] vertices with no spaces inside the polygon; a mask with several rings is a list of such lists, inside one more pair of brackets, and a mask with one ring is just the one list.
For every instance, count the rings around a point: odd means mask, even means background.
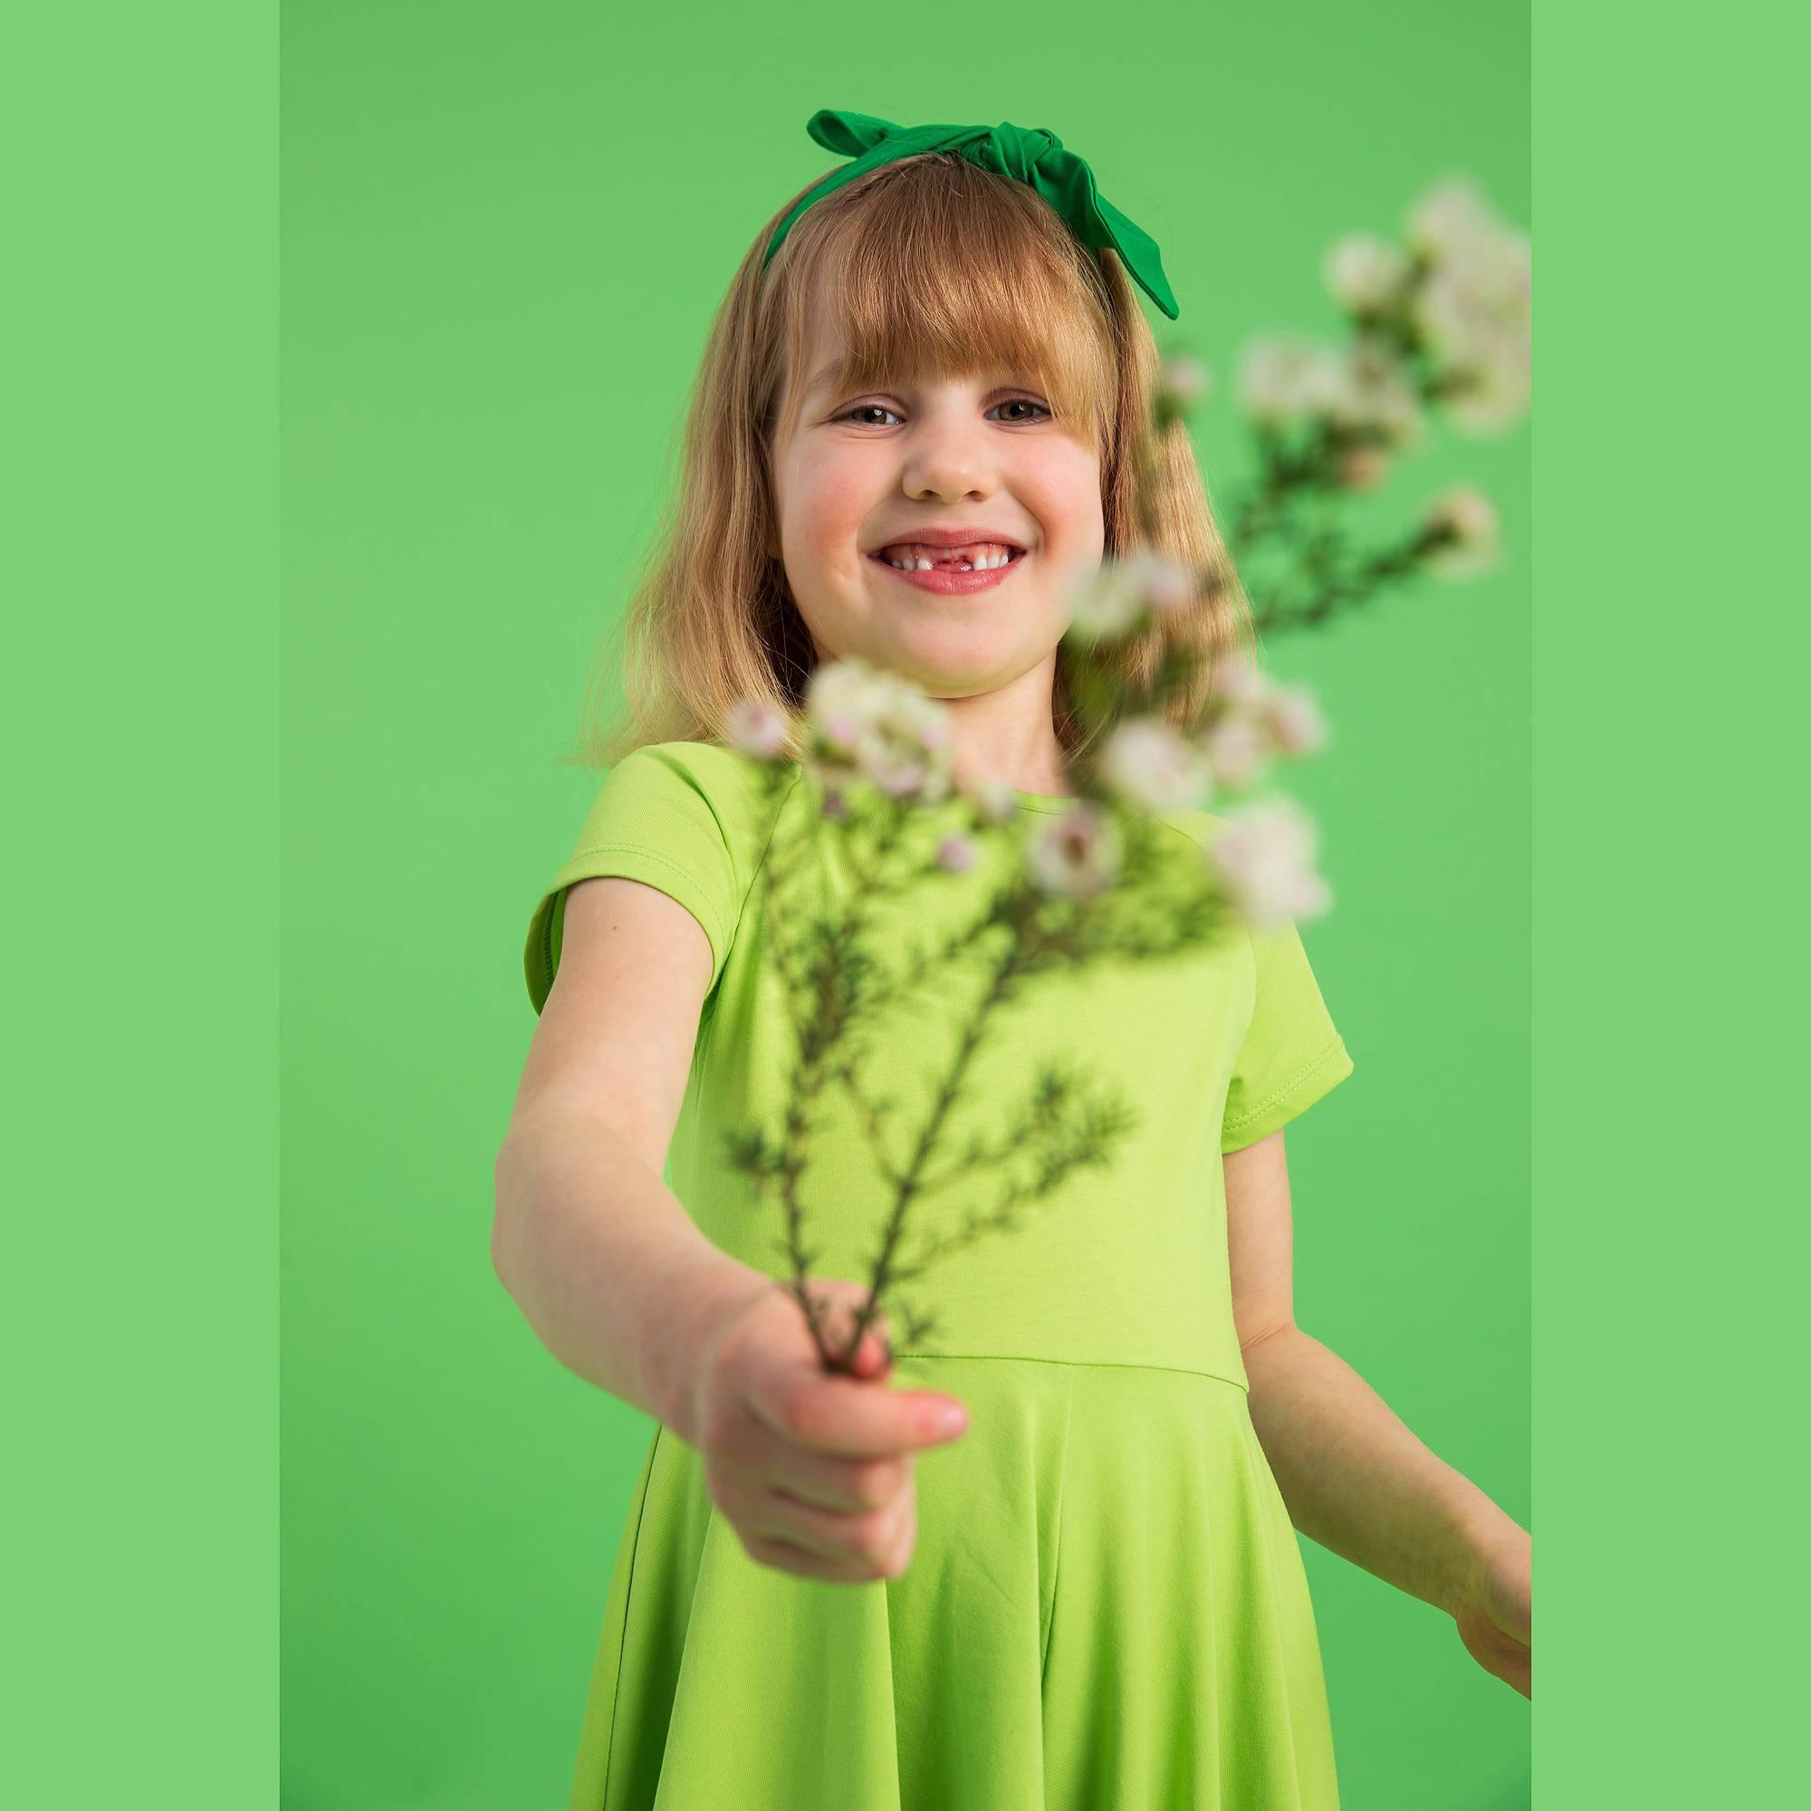
[{"label": "whole lime green short-sleeved dress with flared skirt", "polygon": [[[795,1050],[771,960],[790,920],[762,866],[813,802],[797,768],[779,802],[759,775],[717,743],[657,743],[612,768],[534,909],[525,969],[538,1012],[565,889],[592,875],[659,887],[697,918],[710,992],[666,1179],[721,1250],[786,1277],[781,1210],[757,1204],[724,1139],[779,1134]],[[1016,797],[1021,826],[1070,806]],[[1224,819],[1164,822],[1177,858],[1199,862]],[[820,873],[848,887],[835,860]],[[869,947],[904,958],[974,918],[989,873],[983,858],[927,877]],[[884,1009],[860,1079],[869,1101],[896,1101],[889,1163],[980,998],[976,969]],[[1221,1170],[1351,1074],[1300,936],[1233,918],[1184,954],[1032,976],[987,1023],[933,1164],[944,1186],[913,1203],[913,1228],[992,1208],[1001,1177],[969,1174],[965,1148],[1012,1143],[1047,1059],[1130,1101],[1135,1126],[1110,1164],[1068,1170],[907,1291],[936,1326],[900,1340],[896,1385],[969,1405],[967,1434],[918,1458],[907,1570],[831,1583],[753,1559],[699,1454],[657,1425],[603,1606],[572,1811],[1335,1811],[1302,1556],[1246,1405]],[[815,1112],[810,1273],[866,1279],[891,1195],[848,1090]],[[898,1337],[902,1317],[889,1324]]]}]

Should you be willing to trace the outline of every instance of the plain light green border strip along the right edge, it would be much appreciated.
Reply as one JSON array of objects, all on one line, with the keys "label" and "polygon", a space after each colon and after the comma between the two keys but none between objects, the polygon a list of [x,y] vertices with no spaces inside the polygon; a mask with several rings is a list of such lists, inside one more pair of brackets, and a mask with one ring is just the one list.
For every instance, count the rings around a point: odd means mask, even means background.
[{"label": "plain light green border strip along the right edge", "polygon": [[1806,1791],[1806,38],[1536,7],[1539,1811]]}]

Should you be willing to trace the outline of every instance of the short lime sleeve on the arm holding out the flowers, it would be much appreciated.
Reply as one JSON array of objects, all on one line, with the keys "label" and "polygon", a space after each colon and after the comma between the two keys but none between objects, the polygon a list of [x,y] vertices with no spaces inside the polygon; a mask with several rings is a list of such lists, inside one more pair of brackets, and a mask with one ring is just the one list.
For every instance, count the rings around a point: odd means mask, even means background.
[{"label": "short lime sleeve on the arm holding out the flowers", "polygon": [[[565,895],[578,880],[623,875],[676,898],[710,938],[715,989],[741,916],[730,837],[692,744],[654,743],[603,777],[572,855],[554,873],[529,922],[523,973],[540,1012],[560,967]],[[706,991],[708,992],[708,991]]]}]

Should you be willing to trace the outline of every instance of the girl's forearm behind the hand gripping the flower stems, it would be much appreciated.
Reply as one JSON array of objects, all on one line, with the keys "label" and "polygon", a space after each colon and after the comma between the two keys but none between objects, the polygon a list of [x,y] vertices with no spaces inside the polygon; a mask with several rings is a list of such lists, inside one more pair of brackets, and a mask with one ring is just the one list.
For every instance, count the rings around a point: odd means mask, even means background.
[{"label": "girl's forearm behind the hand gripping the flower stems", "polygon": [[766,1284],[717,1250],[603,1121],[543,1114],[496,1155],[491,1260],[572,1373],[692,1440],[688,1358],[710,1313]]}]

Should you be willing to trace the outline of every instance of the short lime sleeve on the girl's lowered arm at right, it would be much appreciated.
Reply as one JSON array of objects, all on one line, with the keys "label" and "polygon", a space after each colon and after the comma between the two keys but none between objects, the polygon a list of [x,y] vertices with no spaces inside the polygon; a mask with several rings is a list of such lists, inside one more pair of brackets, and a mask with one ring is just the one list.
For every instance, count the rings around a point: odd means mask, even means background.
[{"label": "short lime sleeve on the girl's lowered arm at right", "polygon": [[1268,1137],[1353,1072],[1293,918],[1248,925],[1255,991],[1226,1088],[1221,1152]]}]

